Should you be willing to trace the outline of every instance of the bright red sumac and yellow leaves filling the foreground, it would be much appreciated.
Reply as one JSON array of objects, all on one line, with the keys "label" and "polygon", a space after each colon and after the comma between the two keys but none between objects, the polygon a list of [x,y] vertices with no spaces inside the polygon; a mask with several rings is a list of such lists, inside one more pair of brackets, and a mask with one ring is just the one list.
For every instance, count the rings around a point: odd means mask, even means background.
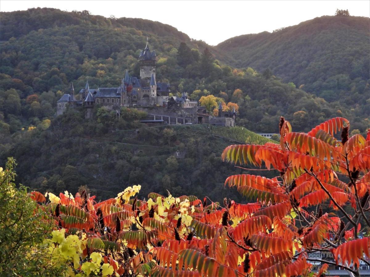
[{"label": "bright red sumac and yellow leaves filling the foreground", "polygon": [[[321,261],[307,253],[322,249],[335,259],[324,263],[358,275],[351,260],[358,266],[363,253],[370,256],[370,238],[359,238],[370,227],[370,131],[366,138],[348,133],[340,117],[307,134],[282,118],[279,144],[228,146],[223,160],[276,172],[228,177],[225,186],[245,203],[156,193],[145,201],[135,197],[139,185],[98,203],[85,191],[48,193],[47,203],[38,192],[31,198],[55,221],[50,251],[59,249],[71,275],[307,276],[309,261]],[[336,213],[323,213],[325,204]],[[74,250],[65,254],[60,245],[68,239]]]}]

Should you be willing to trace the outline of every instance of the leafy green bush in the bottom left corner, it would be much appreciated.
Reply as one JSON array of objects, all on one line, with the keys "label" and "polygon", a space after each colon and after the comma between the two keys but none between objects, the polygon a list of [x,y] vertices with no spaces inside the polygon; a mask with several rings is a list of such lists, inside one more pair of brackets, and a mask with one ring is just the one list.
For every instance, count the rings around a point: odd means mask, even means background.
[{"label": "leafy green bush in the bottom left corner", "polygon": [[37,202],[45,197],[14,183],[16,166],[8,158],[0,167],[0,275],[1,276],[60,276],[63,266],[52,266],[47,257],[53,222]]}]

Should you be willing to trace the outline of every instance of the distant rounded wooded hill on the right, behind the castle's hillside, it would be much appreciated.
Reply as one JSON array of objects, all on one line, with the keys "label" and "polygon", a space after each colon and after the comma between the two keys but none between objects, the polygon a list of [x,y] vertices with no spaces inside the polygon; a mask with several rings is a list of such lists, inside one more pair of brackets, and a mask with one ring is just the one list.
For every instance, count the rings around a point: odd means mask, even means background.
[{"label": "distant rounded wooded hill on the right, behind the castle's hillside", "polygon": [[369,18],[322,16],[273,33],[233,37],[216,48],[235,58],[233,66],[270,69],[329,102],[354,107],[369,99],[369,40]]}]

